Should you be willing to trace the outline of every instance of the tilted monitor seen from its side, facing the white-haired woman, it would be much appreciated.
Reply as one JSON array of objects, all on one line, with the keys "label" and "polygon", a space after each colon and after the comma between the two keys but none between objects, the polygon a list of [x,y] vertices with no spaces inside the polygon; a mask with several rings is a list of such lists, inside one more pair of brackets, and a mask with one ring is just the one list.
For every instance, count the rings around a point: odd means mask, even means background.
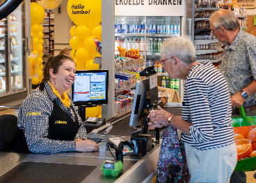
[{"label": "tilted monitor seen from its side, facing the white-haired woman", "polygon": [[157,94],[157,73],[150,75],[144,80],[139,80],[136,83],[134,94],[134,103],[131,110],[130,126],[141,125],[141,119],[158,103]]}]

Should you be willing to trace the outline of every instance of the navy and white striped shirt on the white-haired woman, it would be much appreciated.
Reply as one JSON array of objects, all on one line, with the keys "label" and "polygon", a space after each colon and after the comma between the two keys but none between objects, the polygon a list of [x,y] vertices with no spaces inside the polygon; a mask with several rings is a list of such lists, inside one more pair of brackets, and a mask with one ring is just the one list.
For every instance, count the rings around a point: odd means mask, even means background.
[{"label": "navy and white striped shirt on the white-haired woman", "polygon": [[182,119],[192,123],[182,140],[199,150],[234,143],[230,91],[223,74],[210,62],[196,64],[184,85]]}]

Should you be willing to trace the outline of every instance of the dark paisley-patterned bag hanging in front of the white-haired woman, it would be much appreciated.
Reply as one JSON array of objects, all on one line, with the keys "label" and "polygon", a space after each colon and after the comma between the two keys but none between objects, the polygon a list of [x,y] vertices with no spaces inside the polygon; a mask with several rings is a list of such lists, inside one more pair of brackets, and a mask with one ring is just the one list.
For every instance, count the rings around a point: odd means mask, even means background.
[{"label": "dark paisley-patterned bag hanging in front of the white-haired woman", "polygon": [[[179,170],[175,168],[179,166]],[[175,182],[188,183],[190,180],[189,169],[186,166],[186,152],[184,142],[179,141],[177,128],[169,125],[163,132],[159,160],[157,163],[156,182],[168,181],[168,174],[175,171]]]}]

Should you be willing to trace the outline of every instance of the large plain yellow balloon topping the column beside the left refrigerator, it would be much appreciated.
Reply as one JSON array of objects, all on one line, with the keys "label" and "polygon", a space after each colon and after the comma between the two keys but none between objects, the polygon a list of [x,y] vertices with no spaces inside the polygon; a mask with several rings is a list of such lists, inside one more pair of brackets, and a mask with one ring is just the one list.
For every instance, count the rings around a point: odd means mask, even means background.
[{"label": "large plain yellow balloon topping the column beside the left refrigerator", "polygon": [[45,10],[38,3],[30,3],[31,24],[41,24],[45,19]]}]

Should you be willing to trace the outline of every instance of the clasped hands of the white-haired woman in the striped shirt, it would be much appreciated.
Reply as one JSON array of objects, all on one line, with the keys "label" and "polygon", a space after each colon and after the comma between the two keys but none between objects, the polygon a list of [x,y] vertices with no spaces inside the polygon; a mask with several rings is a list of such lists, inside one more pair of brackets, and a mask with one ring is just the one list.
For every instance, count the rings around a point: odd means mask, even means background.
[{"label": "clasped hands of the white-haired woman in the striped shirt", "polygon": [[161,128],[162,126],[170,125],[168,123],[168,118],[170,116],[174,116],[173,114],[170,114],[170,112],[167,112],[166,110],[163,110],[160,106],[157,106],[158,110],[154,110],[150,112],[150,114],[147,116],[153,123],[148,123],[149,125],[153,125],[156,128]]}]

